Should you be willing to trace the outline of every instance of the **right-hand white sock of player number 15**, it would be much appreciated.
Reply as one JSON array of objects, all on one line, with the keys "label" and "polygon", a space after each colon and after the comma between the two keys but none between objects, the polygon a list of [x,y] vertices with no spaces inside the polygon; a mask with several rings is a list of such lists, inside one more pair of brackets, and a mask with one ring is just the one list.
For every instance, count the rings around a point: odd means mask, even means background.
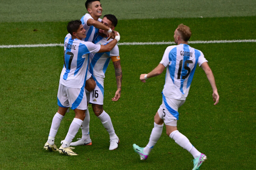
[{"label": "right-hand white sock of player number 15", "polygon": [[189,142],[189,139],[178,130],[174,130],[170,134],[170,138],[172,138],[179,146],[189,151],[194,158],[200,156],[201,153]]}]

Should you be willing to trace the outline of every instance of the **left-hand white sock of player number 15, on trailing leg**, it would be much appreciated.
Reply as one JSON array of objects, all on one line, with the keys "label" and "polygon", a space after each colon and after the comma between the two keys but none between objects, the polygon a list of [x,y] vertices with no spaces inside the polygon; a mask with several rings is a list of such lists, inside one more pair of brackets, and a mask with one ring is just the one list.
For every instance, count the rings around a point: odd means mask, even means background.
[{"label": "left-hand white sock of player number 15, on trailing leg", "polygon": [[150,138],[149,138],[149,143],[143,149],[144,154],[148,155],[151,152],[151,150],[153,149],[153,147],[157,143],[158,139],[160,138],[160,136],[162,134],[162,131],[163,131],[163,124],[158,125],[154,122],[154,128],[151,131],[151,135],[150,135]]}]

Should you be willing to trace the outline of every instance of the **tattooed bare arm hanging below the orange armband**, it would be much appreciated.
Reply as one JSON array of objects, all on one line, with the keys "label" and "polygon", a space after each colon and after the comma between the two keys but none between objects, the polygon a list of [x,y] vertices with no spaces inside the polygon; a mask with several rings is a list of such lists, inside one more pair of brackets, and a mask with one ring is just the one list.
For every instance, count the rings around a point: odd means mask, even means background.
[{"label": "tattooed bare arm hanging below the orange armband", "polygon": [[[116,57],[116,56],[113,56]],[[115,92],[115,96],[112,98],[112,101],[118,101],[121,97],[121,85],[122,85],[122,68],[120,60],[114,61],[114,68],[115,68],[115,79],[117,80],[117,91]]]}]

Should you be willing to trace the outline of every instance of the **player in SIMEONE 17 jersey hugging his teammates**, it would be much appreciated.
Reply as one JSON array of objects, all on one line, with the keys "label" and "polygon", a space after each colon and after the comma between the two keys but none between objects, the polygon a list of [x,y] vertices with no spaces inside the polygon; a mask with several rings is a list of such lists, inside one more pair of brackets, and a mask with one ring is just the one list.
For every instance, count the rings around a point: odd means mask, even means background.
[{"label": "player in SIMEONE 17 jersey hugging his teammates", "polygon": [[[64,40],[64,66],[59,80],[59,108],[53,117],[44,149],[73,156],[77,153],[73,152],[72,149],[74,148],[69,146],[85,118],[85,110],[87,109],[84,87],[89,62],[88,54],[109,52],[117,44],[120,36],[118,32],[115,32],[115,39],[106,45],[82,41],[83,38],[86,38],[86,31],[80,20],[70,21],[67,25],[67,31],[69,34]],[[75,118],[70,124],[65,140],[58,149],[54,144],[54,139],[68,107],[74,110]]]}]

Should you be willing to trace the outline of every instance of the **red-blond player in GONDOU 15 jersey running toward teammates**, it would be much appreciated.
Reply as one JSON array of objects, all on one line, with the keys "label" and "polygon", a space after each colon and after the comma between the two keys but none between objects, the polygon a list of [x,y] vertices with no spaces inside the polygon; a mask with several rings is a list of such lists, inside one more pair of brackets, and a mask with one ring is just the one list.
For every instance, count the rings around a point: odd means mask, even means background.
[{"label": "red-blond player in GONDOU 15 jersey running toward teammates", "polygon": [[146,79],[155,77],[163,72],[165,67],[166,77],[165,85],[162,91],[162,104],[160,105],[154,117],[154,128],[152,129],[149,143],[142,148],[133,144],[134,151],[139,154],[141,160],[146,160],[150,151],[157,143],[163,130],[163,123],[166,126],[167,135],[173,139],[179,146],[189,151],[194,157],[193,170],[199,169],[206,160],[206,155],[199,152],[189,139],[177,129],[177,120],[179,119],[178,108],[185,102],[189,93],[190,84],[195,73],[197,63],[205,71],[205,74],[213,89],[214,105],[219,102],[219,95],[213,73],[208,66],[207,60],[200,50],[194,49],[188,45],[191,31],[186,25],[180,24],[174,31],[174,42],[166,48],[163,58],[159,65],[148,74],[141,74],[140,80],[146,82]]}]

